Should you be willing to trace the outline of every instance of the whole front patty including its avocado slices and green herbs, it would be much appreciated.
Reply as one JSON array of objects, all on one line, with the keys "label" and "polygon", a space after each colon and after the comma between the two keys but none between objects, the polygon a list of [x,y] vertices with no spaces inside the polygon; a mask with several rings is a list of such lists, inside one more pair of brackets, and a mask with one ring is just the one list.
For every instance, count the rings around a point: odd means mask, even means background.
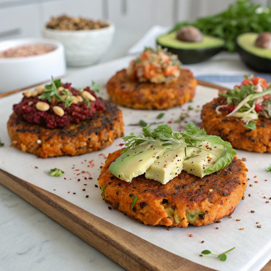
[{"label": "whole front patty including its avocado slices and green herbs", "polygon": [[201,226],[232,213],[246,190],[246,166],[231,144],[189,122],[123,138],[98,179],[102,197],[148,225]]}]

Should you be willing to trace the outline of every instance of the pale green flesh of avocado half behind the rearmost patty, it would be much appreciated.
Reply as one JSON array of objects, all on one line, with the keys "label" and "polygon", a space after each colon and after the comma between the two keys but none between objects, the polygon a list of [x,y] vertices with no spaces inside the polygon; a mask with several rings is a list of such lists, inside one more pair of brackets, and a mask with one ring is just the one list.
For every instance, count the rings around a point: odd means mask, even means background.
[{"label": "pale green flesh of avocado half behind the rearmost patty", "polygon": [[201,42],[187,42],[176,38],[176,32],[172,32],[157,38],[157,43],[164,47],[176,49],[206,49],[224,46],[224,40],[212,36],[204,36]]}]

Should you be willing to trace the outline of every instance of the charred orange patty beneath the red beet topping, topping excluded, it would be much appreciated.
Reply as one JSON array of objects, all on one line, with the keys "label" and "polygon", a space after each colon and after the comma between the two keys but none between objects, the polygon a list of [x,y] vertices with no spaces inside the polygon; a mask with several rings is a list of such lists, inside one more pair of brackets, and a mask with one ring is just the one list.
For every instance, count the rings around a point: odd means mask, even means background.
[{"label": "charred orange patty beneath the red beet topping, topping excluded", "polygon": [[102,101],[105,111],[92,119],[71,123],[64,128],[49,129],[21,120],[13,113],[8,133],[14,147],[38,157],[79,155],[104,149],[124,131],[122,112],[109,101]]}]

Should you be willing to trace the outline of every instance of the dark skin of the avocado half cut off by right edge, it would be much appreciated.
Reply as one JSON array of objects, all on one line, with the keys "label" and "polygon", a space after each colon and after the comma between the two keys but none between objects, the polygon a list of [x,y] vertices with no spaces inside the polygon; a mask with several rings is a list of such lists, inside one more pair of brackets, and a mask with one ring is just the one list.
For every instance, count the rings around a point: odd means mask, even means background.
[{"label": "dark skin of the avocado half cut off by right edge", "polygon": [[238,43],[237,52],[240,54],[242,60],[248,67],[255,70],[256,72],[267,72],[271,73],[271,59],[256,56],[250,52],[244,50]]}]

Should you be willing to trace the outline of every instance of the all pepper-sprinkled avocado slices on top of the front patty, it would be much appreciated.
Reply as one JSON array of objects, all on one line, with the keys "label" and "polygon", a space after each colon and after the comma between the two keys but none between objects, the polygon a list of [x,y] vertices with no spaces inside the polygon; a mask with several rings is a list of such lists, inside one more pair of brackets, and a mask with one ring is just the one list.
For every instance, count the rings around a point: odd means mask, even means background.
[{"label": "all pepper-sprinkled avocado slices on top of the front patty", "polygon": [[206,169],[224,153],[223,145],[203,141],[195,147],[181,145],[175,150],[160,143],[142,143],[118,157],[109,167],[109,172],[126,182],[145,173],[147,179],[166,184],[184,170],[202,178]]}]

